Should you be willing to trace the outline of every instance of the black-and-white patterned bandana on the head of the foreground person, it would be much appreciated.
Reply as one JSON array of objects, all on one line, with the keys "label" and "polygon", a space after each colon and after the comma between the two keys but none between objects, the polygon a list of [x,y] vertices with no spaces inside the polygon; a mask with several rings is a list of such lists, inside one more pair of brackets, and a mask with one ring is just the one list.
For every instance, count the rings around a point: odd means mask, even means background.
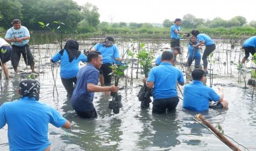
[{"label": "black-and-white patterned bandana on the head of the foreground person", "polygon": [[34,79],[26,79],[20,82],[19,85],[21,97],[35,97],[39,100],[40,83]]}]

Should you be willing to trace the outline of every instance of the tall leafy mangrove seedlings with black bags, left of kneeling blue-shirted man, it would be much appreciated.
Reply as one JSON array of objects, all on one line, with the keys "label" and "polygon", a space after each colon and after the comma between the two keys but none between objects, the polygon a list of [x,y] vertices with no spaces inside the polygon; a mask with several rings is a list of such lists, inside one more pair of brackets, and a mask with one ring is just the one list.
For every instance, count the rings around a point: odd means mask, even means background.
[{"label": "tall leafy mangrove seedlings with black bags, left of kneeling blue-shirted man", "polygon": [[[154,59],[154,53],[153,51],[147,51],[144,48],[144,45],[141,45],[142,50],[139,51],[137,58],[139,60],[140,65],[142,66],[145,78],[148,78],[148,74],[152,65],[152,61]],[[139,97],[140,107],[141,108],[148,108],[149,103],[151,102],[150,96],[151,96],[151,90],[146,86],[146,83],[144,83],[143,88],[140,89],[139,94],[137,95]]]}]

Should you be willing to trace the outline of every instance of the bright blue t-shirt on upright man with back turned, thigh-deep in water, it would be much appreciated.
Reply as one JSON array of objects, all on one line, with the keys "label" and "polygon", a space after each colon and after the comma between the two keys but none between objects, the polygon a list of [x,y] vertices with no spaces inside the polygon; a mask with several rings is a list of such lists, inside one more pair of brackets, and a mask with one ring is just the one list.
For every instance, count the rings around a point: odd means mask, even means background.
[{"label": "bright blue t-shirt on upright man with back turned, thigh-deep in water", "polygon": [[160,66],[153,67],[149,72],[148,82],[154,82],[154,100],[178,96],[176,83],[183,83],[184,78],[180,69],[171,63],[162,62]]}]

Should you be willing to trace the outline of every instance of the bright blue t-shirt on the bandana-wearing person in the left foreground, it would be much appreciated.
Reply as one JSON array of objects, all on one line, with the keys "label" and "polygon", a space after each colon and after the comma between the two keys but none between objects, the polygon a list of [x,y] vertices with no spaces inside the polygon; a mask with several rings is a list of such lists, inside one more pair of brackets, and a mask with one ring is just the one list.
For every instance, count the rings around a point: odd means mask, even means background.
[{"label": "bright blue t-shirt on the bandana-wearing person in the left foreground", "polygon": [[43,150],[48,141],[48,124],[61,127],[66,123],[55,109],[34,97],[3,103],[0,107],[0,129],[8,124],[10,150]]}]

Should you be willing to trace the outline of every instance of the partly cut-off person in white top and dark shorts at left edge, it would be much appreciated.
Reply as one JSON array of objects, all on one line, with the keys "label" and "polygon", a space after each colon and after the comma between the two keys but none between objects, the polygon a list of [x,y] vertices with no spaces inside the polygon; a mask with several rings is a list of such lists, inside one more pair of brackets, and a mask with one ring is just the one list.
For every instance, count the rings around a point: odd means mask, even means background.
[{"label": "partly cut-off person in white top and dark shorts at left edge", "polygon": [[6,66],[6,62],[10,60],[10,55],[12,54],[12,48],[10,44],[0,37],[0,66],[2,66],[4,75],[6,79],[9,79],[9,71]]}]

